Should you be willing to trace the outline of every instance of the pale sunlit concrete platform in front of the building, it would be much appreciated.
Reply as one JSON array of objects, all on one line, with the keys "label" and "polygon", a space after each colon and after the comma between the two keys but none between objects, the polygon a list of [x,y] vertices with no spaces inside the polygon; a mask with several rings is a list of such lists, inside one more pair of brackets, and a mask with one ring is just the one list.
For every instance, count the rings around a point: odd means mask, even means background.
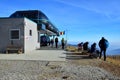
[{"label": "pale sunlit concrete platform in front of the building", "polygon": [[25,54],[0,54],[0,60],[65,61],[64,50],[34,50]]}]

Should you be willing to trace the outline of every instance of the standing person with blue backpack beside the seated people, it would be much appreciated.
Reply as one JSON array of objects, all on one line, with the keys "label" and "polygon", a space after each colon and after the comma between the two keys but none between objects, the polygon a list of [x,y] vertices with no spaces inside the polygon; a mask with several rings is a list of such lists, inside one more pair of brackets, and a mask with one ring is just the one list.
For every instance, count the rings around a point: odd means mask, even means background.
[{"label": "standing person with blue backpack beside the seated people", "polygon": [[106,49],[108,47],[109,43],[108,40],[106,40],[104,37],[99,41],[99,47],[100,47],[100,55],[99,58],[101,59],[102,52],[104,53],[104,61],[106,61]]}]

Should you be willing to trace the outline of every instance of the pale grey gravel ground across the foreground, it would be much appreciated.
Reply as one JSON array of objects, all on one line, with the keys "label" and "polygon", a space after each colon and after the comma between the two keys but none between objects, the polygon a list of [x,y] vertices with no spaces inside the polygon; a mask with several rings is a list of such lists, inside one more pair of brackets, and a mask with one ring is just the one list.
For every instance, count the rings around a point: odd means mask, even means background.
[{"label": "pale grey gravel ground across the foreground", "polygon": [[0,60],[0,80],[120,80],[90,65],[69,62]]}]

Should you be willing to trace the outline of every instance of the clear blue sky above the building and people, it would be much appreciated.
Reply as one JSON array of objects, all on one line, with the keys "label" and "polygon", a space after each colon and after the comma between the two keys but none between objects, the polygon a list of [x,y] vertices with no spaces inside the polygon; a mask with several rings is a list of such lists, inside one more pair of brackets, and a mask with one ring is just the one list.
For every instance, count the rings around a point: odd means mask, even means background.
[{"label": "clear blue sky above the building and people", "polygon": [[0,17],[16,10],[41,10],[66,31],[69,42],[98,42],[104,36],[120,47],[120,0],[1,0],[0,9]]}]

